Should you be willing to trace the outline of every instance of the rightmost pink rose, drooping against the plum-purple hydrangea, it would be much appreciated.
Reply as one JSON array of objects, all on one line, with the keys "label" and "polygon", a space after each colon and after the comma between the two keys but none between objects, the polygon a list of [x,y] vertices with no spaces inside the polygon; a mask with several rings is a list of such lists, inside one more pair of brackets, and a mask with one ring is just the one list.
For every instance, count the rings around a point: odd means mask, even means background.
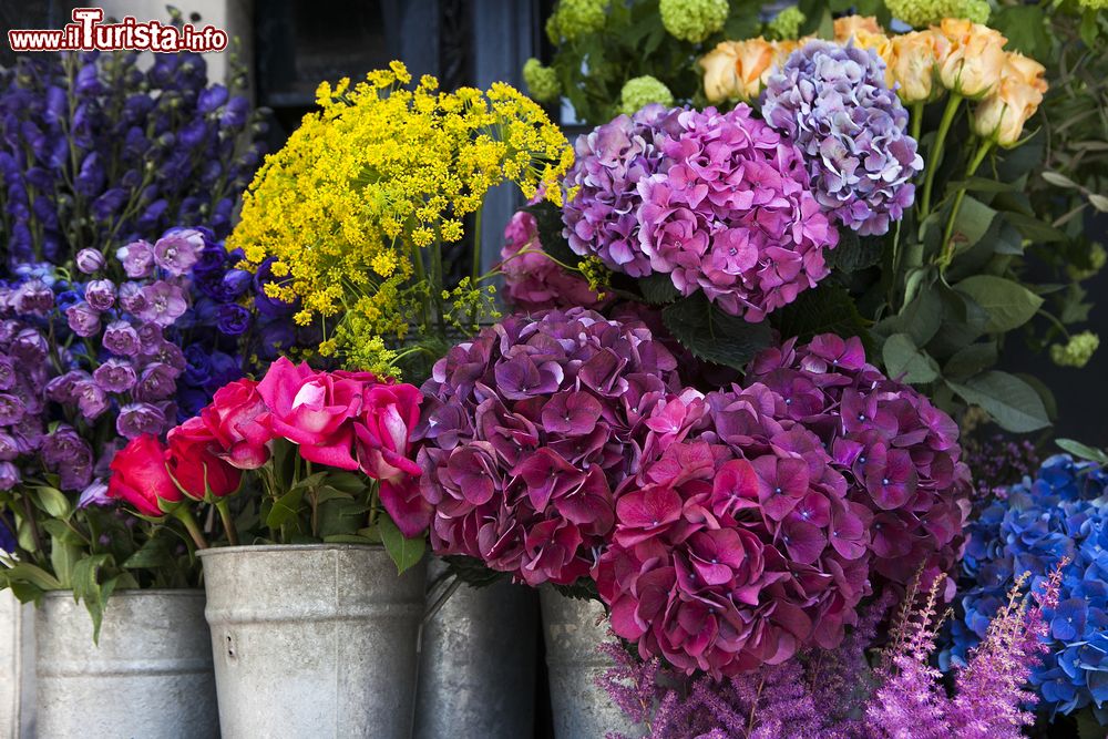
[{"label": "rightmost pink rose, drooping against the plum-purple hydrangea", "polygon": [[420,468],[409,458],[421,400],[410,384],[373,384],[355,424],[359,466],[381,482],[381,504],[404,536],[416,536],[431,523],[431,505],[414,480]]}]

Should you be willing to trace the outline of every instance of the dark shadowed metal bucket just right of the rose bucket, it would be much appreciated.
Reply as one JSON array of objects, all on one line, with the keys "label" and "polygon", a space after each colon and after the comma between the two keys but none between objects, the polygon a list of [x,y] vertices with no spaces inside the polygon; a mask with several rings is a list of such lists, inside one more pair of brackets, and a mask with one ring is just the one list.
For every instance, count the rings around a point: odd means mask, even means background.
[{"label": "dark shadowed metal bucket just right of the rose bucket", "polygon": [[[445,564],[428,569],[439,581]],[[430,589],[428,603],[445,587]],[[423,625],[417,739],[531,736],[537,616],[535,592],[506,581],[450,595]]]}]

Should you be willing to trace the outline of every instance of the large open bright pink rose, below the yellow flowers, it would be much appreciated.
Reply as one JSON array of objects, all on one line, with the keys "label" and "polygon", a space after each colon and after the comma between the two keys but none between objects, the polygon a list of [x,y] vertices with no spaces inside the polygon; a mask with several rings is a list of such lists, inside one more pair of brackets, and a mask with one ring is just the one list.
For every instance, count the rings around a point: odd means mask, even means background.
[{"label": "large open bright pink rose, below the yellow flowers", "polygon": [[351,448],[363,392],[365,383],[355,376],[318,372],[284,357],[258,383],[273,433],[299,444],[309,462],[340,470],[358,469]]}]

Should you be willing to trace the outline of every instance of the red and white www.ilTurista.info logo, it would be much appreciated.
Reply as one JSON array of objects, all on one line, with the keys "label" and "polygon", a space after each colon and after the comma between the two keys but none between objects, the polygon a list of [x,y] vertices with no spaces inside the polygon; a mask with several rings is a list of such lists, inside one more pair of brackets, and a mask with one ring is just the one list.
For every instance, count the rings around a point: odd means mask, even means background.
[{"label": "red and white www.ilTurista.info logo", "polygon": [[171,25],[158,21],[140,23],[127,16],[119,23],[102,23],[102,8],[74,8],[73,22],[58,31],[8,31],[12,51],[223,51],[227,32],[214,25]]}]

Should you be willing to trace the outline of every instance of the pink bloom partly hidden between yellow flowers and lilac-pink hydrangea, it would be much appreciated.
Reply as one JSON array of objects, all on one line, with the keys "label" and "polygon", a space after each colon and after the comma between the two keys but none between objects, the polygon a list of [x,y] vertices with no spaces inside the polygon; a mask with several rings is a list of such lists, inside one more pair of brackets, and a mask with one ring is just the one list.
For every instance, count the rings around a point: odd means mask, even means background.
[{"label": "pink bloom partly hidden between yellow flowers and lilac-pink hydrangea", "polygon": [[566,271],[546,255],[538,239],[537,222],[525,211],[507,222],[500,256],[504,298],[519,310],[598,308],[608,302],[581,275]]}]

